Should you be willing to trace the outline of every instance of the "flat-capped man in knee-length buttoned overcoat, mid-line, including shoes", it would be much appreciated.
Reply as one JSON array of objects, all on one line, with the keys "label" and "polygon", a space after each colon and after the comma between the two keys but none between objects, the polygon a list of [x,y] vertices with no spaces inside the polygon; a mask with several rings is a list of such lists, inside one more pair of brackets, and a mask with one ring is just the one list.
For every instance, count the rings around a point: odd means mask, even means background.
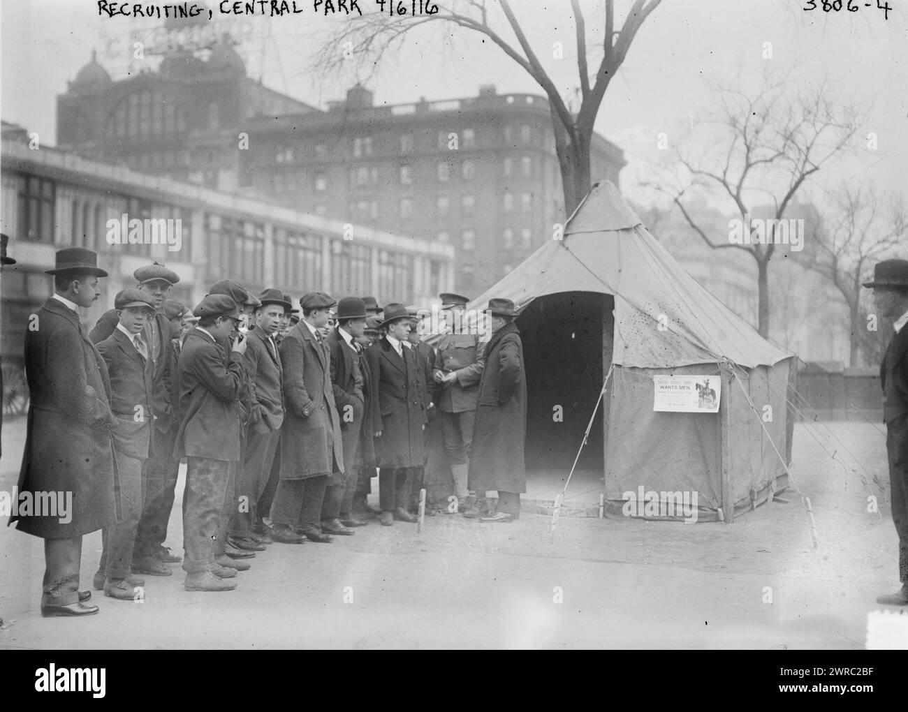
[{"label": "flat-capped man in knee-length buttoned overcoat, mid-line, including shoes", "polygon": [[331,355],[319,329],[328,324],[334,300],[323,292],[309,292],[300,306],[300,323],[281,341],[284,423],[271,538],[288,544],[303,539],[330,543],[331,534],[321,532],[321,505],[331,474],[342,473],[344,464]]}]

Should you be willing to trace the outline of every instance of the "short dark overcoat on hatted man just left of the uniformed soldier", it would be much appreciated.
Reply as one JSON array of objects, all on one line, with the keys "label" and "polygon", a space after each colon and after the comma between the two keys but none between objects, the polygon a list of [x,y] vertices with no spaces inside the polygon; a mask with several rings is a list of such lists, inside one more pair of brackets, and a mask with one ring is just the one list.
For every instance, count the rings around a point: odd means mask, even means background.
[{"label": "short dark overcoat on hatted man just left of the uniformed soldier", "polygon": [[419,388],[419,366],[413,352],[402,346],[403,357],[382,336],[366,350],[370,365],[372,431],[379,467],[420,467],[423,463],[422,425],[426,407]]}]

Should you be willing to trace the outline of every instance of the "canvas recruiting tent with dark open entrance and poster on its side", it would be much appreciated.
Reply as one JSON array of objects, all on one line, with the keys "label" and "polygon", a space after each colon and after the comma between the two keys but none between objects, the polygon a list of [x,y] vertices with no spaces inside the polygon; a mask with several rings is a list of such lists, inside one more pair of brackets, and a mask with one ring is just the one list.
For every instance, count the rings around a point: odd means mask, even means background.
[{"label": "canvas recruiting tent with dark open entrance and poster on its side", "polygon": [[[518,307],[528,467],[570,468],[614,366],[584,452],[605,474],[607,500],[640,487],[660,497],[696,492],[700,520],[721,510],[730,521],[787,486],[793,355],[688,275],[612,183],[597,183],[563,239],[549,239],[468,309],[481,311],[490,297]],[[660,375],[721,379],[719,412],[654,412]]]}]

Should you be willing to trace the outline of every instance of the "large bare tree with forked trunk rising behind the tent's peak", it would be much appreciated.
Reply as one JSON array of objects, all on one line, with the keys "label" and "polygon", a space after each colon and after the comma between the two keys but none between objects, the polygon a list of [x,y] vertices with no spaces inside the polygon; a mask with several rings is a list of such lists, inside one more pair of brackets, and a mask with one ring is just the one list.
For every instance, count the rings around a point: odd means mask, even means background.
[{"label": "large bare tree with forked trunk rising behind the tent's peak", "polygon": [[[375,66],[381,57],[394,56],[415,28],[432,23],[454,24],[471,33],[483,35],[496,44],[504,54],[518,63],[538,83],[548,96],[549,111],[555,132],[555,150],[561,171],[565,210],[574,211],[590,189],[589,150],[599,106],[618,68],[624,63],[627,51],[637,36],[640,25],[662,0],[634,0],[619,28],[615,22],[615,0],[606,0],[604,40],[597,47],[587,46],[587,24],[579,0],[570,0],[575,24],[577,73],[579,74],[580,108],[571,112],[568,98],[558,93],[539,54],[530,46],[518,15],[508,0],[449,0],[437,5],[434,15],[394,15],[370,13],[339,26],[321,46],[316,68],[325,73],[338,71],[345,61],[341,48],[348,56],[360,60],[360,66]],[[528,15],[536,5],[526,3],[520,11]],[[503,15],[503,16],[502,16]],[[347,43],[350,43],[349,45]],[[590,57],[602,53],[595,75],[589,72]],[[568,96],[570,93],[568,93]]]}]

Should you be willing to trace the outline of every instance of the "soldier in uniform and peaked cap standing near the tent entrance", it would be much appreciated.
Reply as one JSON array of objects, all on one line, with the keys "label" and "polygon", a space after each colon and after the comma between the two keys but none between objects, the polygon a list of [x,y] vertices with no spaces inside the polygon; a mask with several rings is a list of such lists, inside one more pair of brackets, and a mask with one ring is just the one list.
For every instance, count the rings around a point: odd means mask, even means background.
[{"label": "soldier in uniform and peaked cap standing near the tent entrance", "polygon": [[476,423],[479,378],[486,363],[484,345],[475,333],[477,325],[467,323],[467,297],[449,292],[439,297],[441,308],[446,312],[448,329],[439,339],[439,366],[433,375],[439,385],[437,409],[454,478],[454,493],[464,516],[477,517],[485,508],[485,493],[477,493],[475,500],[468,501],[467,473]]}]

